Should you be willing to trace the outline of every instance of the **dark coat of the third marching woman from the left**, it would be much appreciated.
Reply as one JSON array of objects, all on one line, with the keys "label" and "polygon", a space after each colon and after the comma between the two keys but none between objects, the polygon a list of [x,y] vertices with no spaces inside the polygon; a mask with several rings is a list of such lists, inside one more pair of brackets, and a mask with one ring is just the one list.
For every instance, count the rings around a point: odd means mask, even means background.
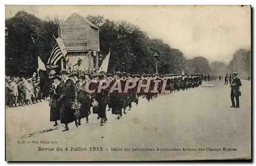
[{"label": "dark coat of the third marching woman from the left", "polygon": [[77,102],[81,104],[80,108],[80,116],[78,118],[86,118],[89,116],[90,110],[90,94],[86,92],[86,82],[84,81],[82,84],[77,82],[76,90],[77,90]]}]

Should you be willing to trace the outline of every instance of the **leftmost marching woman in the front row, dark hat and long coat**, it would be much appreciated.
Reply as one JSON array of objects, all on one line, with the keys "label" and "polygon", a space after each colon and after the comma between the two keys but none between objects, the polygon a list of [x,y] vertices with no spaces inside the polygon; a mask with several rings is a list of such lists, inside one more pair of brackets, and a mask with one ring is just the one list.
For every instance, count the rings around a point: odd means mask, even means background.
[{"label": "leftmost marching woman in the front row, dark hat and long coat", "polygon": [[50,99],[50,122],[55,122],[53,126],[57,126],[57,121],[60,120],[60,107],[58,104],[58,99],[61,93],[60,86],[61,78],[58,75],[53,77],[53,84],[51,88],[51,99]]}]

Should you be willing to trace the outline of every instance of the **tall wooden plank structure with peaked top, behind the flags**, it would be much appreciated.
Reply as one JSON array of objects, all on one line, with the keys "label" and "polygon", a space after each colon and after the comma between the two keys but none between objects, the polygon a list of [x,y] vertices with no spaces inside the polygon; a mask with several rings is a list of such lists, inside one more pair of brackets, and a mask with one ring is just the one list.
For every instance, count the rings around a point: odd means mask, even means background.
[{"label": "tall wooden plank structure with peaked top, behind the flags", "polygon": [[[71,68],[80,58],[82,60],[80,69],[93,67],[98,69],[100,47],[99,28],[96,25],[86,17],[73,13],[59,26],[59,37],[67,49]],[[67,69],[64,60],[61,62],[61,69]]]}]

